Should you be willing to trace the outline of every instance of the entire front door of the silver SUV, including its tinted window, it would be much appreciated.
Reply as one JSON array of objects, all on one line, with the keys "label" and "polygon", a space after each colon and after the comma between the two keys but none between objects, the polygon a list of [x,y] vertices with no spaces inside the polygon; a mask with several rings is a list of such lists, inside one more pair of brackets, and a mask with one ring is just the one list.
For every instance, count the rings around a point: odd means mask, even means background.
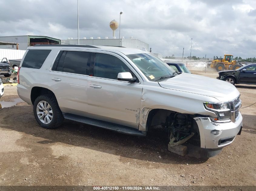
[{"label": "entire front door of the silver SUV, including its tinted window", "polygon": [[[87,84],[88,115],[138,129],[143,81],[135,76],[128,62],[117,56],[95,54],[93,73]],[[119,72],[131,72],[137,81],[118,81]]]}]

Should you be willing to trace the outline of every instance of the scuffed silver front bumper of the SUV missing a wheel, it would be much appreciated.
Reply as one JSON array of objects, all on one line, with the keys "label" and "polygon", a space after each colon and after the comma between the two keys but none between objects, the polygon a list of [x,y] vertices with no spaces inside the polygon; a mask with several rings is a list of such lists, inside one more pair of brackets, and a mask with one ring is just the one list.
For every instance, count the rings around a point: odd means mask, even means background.
[{"label": "scuffed silver front bumper of the SUV missing a wheel", "polygon": [[194,118],[199,129],[201,148],[222,148],[231,144],[241,132],[243,117],[239,112],[235,122],[214,123],[208,117]]}]

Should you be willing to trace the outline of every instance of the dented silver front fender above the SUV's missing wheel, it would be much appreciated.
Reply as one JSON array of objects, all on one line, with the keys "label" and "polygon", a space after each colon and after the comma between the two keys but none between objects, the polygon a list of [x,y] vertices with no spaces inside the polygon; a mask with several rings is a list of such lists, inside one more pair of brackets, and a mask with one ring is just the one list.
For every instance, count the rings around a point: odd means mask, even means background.
[{"label": "dented silver front fender above the SUV's missing wheel", "polygon": [[139,130],[146,131],[148,114],[153,109],[164,109],[184,114],[216,117],[205,110],[203,101],[218,102],[214,97],[145,85],[142,90]]}]

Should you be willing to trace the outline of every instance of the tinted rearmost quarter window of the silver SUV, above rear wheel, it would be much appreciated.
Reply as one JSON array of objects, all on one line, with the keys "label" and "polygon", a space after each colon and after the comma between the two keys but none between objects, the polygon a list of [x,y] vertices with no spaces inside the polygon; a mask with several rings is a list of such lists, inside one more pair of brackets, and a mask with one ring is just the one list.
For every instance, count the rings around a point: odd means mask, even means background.
[{"label": "tinted rearmost quarter window of the silver SUV, above rear wheel", "polygon": [[43,63],[45,62],[45,59],[49,55],[49,53],[52,50],[28,50],[28,53],[26,54],[22,67],[25,68],[36,68],[39,69],[42,67]]}]

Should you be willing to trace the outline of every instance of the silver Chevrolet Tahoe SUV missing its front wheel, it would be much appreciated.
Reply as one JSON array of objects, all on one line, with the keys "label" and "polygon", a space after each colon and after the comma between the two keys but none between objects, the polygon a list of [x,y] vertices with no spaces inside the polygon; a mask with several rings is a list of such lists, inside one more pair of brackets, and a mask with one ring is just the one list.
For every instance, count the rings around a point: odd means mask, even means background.
[{"label": "silver Chevrolet Tahoe SUV missing its front wheel", "polygon": [[139,49],[86,45],[28,47],[18,95],[40,126],[64,119],[129,135],[168,129],[170,145],[193,136],[212,156],[241,133],[241,100],[230,83],[176,73]]}]

